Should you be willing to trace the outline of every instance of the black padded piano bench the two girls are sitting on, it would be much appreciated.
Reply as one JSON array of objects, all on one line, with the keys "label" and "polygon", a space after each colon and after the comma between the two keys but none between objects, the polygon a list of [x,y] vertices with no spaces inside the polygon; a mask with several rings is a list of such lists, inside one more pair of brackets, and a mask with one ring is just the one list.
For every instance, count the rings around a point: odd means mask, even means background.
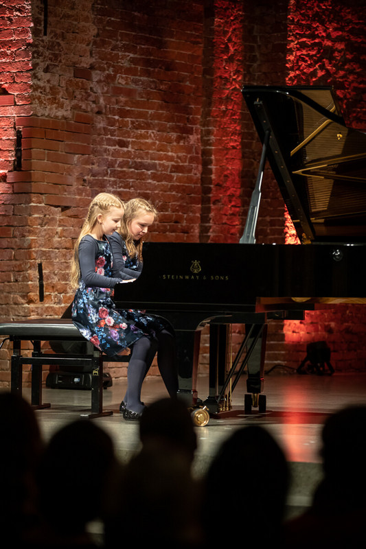
[{"label": "black padded piano bench the two girls are sitting on", "polygon": [[[22,394],[23,364],[31,364],[31,405],[35,409],[50,408],[50,404],[42,402],[42,366],[74,366],[87,367],[91,371],[91,412],[81,414],[82,417],[101,417],[112,415],[111,410],[103,410],[103,363],[111,362],[113,358],[103,355],[101,351],[89,344],[73,325],[69,318],[41,318],[30,320],[15,320],[0,323],[0,336],[12,342],[12,357],[10,360],[10,390]],[[21,342],[32,342],[33,351],[30,356],[21,353]],[[79,342],[87,343],[87,353],[43,353],[41,342]],[[1,348],[0,346],[0,348]],[[128,356],[119,357],[119,362],[128,362]]]}]

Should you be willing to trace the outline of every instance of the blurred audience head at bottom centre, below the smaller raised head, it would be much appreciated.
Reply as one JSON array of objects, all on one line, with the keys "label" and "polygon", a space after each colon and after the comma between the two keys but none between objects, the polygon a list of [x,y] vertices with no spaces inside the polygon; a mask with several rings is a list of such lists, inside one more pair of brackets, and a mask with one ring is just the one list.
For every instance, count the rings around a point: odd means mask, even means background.
[{"label": "blurred audience head at bottom centre, below the smaller raised head", "polygon": [[170,445],[148,443],[130,458],[115,485],[114,509],[106,521],[106,549],[202,547],[198,484],[187,461]]}]

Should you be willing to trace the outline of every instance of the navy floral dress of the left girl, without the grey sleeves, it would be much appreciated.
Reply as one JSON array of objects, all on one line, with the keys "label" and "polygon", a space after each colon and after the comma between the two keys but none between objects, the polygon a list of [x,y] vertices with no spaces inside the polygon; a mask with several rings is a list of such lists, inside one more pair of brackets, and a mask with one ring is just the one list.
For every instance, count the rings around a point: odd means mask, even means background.
[{"label": "navy floral dress of the left girl, without the grey sleeves", "polygon": [[[108,241],[95,240],[95,243],[95,273],[100,280],[108,277],[115,284],[111,247]],[[86,285],[83,279],[73,299],[71,316],[80,334],[108,356],[130,347],[142,336],[154,336],[164,327],[162,318],[144,311],[116,309],[113,288]]]}]

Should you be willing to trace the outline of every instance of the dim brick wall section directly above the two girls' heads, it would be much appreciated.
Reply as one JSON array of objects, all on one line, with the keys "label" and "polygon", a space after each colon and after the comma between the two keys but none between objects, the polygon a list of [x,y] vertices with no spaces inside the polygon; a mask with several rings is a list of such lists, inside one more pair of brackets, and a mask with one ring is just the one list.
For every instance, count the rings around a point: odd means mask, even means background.
[{"label": "dim brick wall section directly above the two girls' heads", "polygon": [[[106,5],[107,7],[106,7]],[[91,185],[159,209],[154,240],[195,242],[201,208],[202,2],[93,3]]]}]

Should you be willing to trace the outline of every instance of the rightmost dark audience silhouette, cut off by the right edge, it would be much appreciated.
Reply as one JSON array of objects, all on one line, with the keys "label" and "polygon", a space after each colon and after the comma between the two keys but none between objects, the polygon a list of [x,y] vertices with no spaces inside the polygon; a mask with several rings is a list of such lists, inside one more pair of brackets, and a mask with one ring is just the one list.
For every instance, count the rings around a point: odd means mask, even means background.
[{"label": "rightmost dark audience silhouette, cut off by the right edge", "polygon": [[366,544],[366,406],[332,414],[321,432],[323,478],[304,513],[284,528],[285,548]]}]

